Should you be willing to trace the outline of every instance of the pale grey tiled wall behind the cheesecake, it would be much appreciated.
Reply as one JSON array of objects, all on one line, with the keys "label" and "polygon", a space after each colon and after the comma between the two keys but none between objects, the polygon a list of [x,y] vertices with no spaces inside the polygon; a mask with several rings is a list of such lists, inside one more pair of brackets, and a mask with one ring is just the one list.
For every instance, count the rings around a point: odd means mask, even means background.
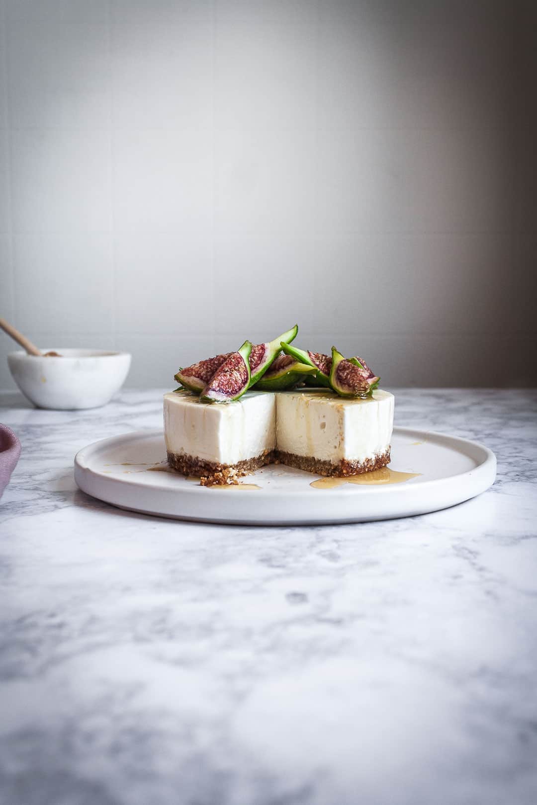
[{"label": "pale grey tiled wall behind the cheesecake", "polygon": [[136,386],[296,320],[535,384],[536,5],[0,0],[0,315]]}]

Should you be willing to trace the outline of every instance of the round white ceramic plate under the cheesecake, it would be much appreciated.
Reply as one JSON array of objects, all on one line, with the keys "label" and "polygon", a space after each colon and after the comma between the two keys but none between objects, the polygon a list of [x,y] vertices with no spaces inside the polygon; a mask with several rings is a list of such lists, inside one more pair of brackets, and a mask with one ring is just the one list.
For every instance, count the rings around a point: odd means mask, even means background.
[{"label": "round white ceramic plate under the cheesecake", "polygon": [[317,476],[282,465],[242,479],[261,489],[207,488],[167,469],[162,431],[138,431],[76,454],[75,480],[122,509],[180,520],[250,525],[313,525],[409,517],[469,500],[494,483],[496,457],[477,442],[395,427],[390,469],[420,473],[399,484],[310,486]]}]

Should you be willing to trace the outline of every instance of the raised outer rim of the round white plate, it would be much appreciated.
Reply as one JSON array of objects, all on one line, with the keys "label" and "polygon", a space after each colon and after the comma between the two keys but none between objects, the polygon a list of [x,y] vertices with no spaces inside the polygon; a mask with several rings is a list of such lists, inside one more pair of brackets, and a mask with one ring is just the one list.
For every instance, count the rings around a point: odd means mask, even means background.
[{"label": "raised outer rim of the round white plate", "polygon": [[[262,488],[251,498],[252,502],[258,502],[255,506],[246,504],[251,497],[245,497],[245,493],[250,491],[247,489],[237,489],[233,495],[225,496],[211,492],[210,497],[205,497],[208,490],[200,485],[167,485],[160,483],[159,477],[147,482],[147,476],[144,483],[139,483],[132,474],[126,478],[89,467],[88,462],[94,452],[106,449],[107,445],[121,446],[136,439],[163,439],[160,428],[147,428],[109,436],[81,448],[75,456],[74,477],[76,485],[90,497],[121,510],[183,522],[261,527],[324,526],[414,517],[459,505],[477,497],[494,484],[496,456],[484,444],[462,436],[415,427],[396,426],[394,433],[436,441],[439,446],[461,452],[473,460],[475,466],[462,473],[429,481],[412,478],[404,485],[353,486],[352,491],[348,485],[341,485],[312,497],[308,496],[306,489],[276,491]],[[291,473],[300,472],[289,469]],[[306,474],[312,476],[312,473]],[[278,514],[271,508],[275,495],[279,495],[282,501]],[[239,506],[236,505],[238,501]],[[335,511],[337,514],[334,514]]]}]

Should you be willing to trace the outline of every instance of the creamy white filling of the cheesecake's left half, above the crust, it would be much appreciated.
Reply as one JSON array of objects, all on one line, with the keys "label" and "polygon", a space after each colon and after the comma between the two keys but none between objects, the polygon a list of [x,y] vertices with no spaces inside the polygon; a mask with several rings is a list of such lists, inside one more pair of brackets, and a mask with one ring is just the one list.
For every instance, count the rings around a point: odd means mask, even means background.
[{"label": "creamy white filling of the cheesecake's left half, above the crust", "polygon": [[164,394],[168,452],[214,464],[238,464],[275,447],[274,394],[249,391],[238,402],[201,403],[194,394]]}]

